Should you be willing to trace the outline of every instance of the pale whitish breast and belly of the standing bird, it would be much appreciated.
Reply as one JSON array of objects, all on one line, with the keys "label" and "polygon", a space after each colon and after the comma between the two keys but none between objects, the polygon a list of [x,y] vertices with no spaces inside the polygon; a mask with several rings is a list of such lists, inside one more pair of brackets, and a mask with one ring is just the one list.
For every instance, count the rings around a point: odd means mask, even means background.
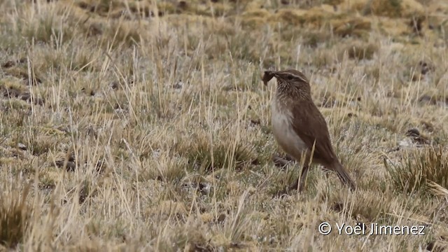
[{"label": "pale whitish breast and belly of the standing bird", "polygon": [[286,151],[289,155],[293,155],[293,157],[297,157],[303,151],[307,151],[307,145],[293,129],[293,113],[287,108],[279,107],[275,99],[272,102],[271,108],[272,132],[279,146],[283,148],[283,151]]}]

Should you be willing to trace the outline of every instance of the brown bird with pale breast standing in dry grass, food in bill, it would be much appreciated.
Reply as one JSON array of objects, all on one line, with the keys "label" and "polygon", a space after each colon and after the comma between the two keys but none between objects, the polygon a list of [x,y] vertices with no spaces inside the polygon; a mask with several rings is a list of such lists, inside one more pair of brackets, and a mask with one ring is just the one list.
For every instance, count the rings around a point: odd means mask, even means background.
[{"label": "brown bird with pale breast standing in dry grass, food in bill", "polygon": [[289,69],[265,71],[262,80],[267,85],[273,77],[277,80],[276,94],[271,104],[274,138],[296,162],[304,161],[300,179],[286,191],[299,186],[299,192],[302,192],[310,159],[313,164],[320,164],[325,169],[337,172],[342,183],[355,190],[356,184],[333,151],[327,123],[311,98],[307,77],[300,71]]}]

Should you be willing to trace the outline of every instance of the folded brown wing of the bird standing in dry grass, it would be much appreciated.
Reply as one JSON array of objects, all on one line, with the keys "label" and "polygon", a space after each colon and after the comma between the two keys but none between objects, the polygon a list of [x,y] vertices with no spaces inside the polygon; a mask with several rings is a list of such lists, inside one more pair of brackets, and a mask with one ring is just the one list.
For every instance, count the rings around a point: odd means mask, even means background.
[{"label": "folded brown wing of the bird standing in dry grass", "polygon": [[[325,118],[317,107],[314,104],[300,102],[293,106],[292,112],[294,132],[307,144],[310,150],[314,145],[314,159],[328,163],[335,160]],[[316,144],[314,144],[314,141],[316,141]]]}]

